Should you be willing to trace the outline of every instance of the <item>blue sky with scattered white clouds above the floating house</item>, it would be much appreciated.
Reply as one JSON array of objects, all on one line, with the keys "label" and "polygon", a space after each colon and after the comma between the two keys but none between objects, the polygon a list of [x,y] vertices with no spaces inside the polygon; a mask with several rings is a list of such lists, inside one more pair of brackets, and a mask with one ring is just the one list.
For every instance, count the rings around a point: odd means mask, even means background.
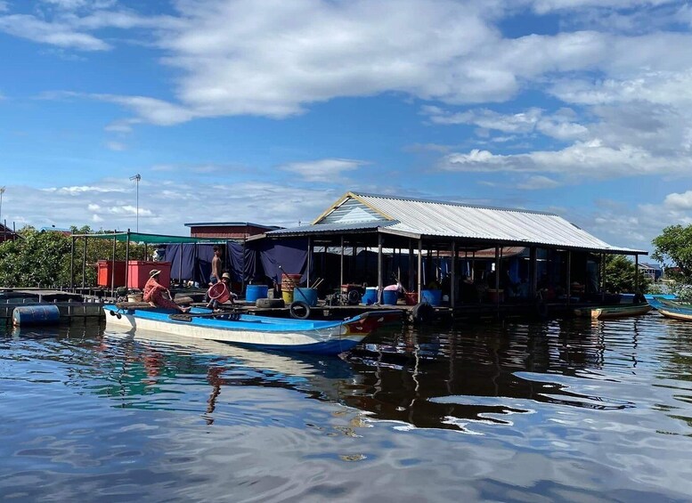
[{"label": "blue sky with scattered white clouds above the floating house", "polygon": [[669,0],[0,0],[0,220],[186,235],[362,191],[651,250],[692,224],[691,27]]}]

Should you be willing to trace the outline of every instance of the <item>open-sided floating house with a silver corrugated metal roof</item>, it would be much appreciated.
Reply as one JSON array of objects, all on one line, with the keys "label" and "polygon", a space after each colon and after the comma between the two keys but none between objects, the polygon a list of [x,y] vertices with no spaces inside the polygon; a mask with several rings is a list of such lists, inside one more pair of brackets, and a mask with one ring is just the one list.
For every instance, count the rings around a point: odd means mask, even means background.
[{"label": "open-sided floating house with a silver corrugated metal roof", "polygon": [[394,280],[418,298],[427,288],[446,288],[452,306],[468,300],[462,295],[468,285],[480,302],[540,292],[567,302],[575,293],[599,295],[606,255],[635,261],[647,255],[609,245],[551,213],[362,192],[347,192],[309,225],[248,240],[255,239],[305,239],[308,283],[311,274],[334,269],[320,267],[327,260],[315,252],[336,250],[339,285],[367,280],[381,290]]}]

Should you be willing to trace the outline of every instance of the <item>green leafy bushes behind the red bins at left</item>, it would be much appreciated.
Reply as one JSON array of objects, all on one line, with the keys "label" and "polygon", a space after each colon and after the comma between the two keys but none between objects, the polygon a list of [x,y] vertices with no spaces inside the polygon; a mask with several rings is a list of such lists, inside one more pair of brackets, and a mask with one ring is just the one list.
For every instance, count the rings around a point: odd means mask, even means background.
[{"label": "green leafy bushes behind the red bins at left", "polygon": [[[75,234],[91,234],[88,227],[75,228]],[[99,231],[102,232],[102,231]],[[0,287],[14,288],[61,288],[69,287],[72,271],[72,237],[62,232],[37,231],[27,226],[19,232],[20,239],[0,243]],[[113,256],[113,241],[110,239],[86,239],[84,260],[84,238],[75,239],[74,284],[86,286],[96,284],[96,263],[110,260]],[[143,245],[130,243],[131,259],[143,259]],[[116,260],[125,260],[126,243],[117,243]]]}]

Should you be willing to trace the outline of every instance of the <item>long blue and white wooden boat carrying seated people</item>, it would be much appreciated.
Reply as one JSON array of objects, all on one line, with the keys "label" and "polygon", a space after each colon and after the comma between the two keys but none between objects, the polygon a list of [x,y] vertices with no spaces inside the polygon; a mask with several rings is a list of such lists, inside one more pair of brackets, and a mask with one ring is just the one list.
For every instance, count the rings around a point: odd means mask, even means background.
[{"label": "long blue and white wooden boat carrying seated people", "polygon": [[364,312],[346,320],[293,320],[193,308],[176,313],[146,304],[105,304],[107,328],[144,329],[263,350],[344,353],[381,325],[401,320],[397,310]]}]

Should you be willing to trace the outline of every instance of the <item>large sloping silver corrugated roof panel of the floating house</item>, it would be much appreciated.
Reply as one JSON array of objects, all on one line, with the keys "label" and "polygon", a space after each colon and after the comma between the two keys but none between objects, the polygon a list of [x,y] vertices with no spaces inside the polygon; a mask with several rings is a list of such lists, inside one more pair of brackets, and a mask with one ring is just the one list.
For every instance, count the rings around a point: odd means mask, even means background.
[{"label": "large sloping silver corrugated roof panel of the floating house", "polygon": [[525,242],[615,253],[647,253],[609,245],[561,216],[550,213],[364,193],[350,195],[383,218],[393,219],[395,223],[388,226],[387,231],[444,238]]}]

